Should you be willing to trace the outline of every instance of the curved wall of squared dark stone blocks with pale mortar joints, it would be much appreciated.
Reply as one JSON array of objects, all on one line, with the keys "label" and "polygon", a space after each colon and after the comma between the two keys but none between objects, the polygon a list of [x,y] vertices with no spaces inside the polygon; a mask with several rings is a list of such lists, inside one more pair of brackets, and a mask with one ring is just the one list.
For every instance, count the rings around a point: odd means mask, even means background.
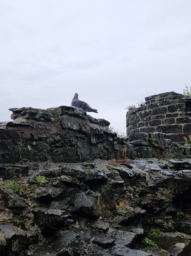
[{"label": "curved wall of squared dark stone blocks with pale mortar joints", "polygon": [[162,132],[183,144],[191,133],[191,98],[175,92],[145,98],[146,105],[127,112],[127,136],[132,133]]}]

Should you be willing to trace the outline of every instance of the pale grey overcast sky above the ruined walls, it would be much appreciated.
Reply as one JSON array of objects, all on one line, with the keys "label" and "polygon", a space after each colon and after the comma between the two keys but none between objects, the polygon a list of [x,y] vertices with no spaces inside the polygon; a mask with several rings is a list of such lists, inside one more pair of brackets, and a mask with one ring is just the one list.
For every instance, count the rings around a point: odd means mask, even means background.
[{"label": "pale grey overcast sky above the ruined walls", "polygon": [[126,105],[191,86],[190,0],[0,0],[0,121],[79,99],[125,133]]}]

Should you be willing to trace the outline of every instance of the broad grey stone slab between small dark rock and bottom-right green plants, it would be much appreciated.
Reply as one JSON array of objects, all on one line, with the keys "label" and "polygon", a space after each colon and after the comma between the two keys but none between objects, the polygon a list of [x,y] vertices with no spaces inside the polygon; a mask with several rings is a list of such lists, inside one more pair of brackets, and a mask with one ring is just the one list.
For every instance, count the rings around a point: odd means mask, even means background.
[{"label": "broad grey stone slab between small dark rock and bottom-right green plants", "polygon": [[121,244],[126,247],[133,247],[137,240],[135,233],[121,230],[113,231],[111,236],[115,239],[115,244]]}]

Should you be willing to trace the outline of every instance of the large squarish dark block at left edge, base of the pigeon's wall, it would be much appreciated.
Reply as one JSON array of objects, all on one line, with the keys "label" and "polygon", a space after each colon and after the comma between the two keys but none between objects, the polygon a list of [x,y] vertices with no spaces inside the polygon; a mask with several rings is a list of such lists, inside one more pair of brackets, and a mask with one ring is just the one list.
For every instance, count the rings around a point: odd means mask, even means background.
[{"label": "large squarish dark block at left edge, base of the pigeon's wall", "polygon": [[19,146],[16,142],[0,142],[0,162],[16,163],[21,160]]}]

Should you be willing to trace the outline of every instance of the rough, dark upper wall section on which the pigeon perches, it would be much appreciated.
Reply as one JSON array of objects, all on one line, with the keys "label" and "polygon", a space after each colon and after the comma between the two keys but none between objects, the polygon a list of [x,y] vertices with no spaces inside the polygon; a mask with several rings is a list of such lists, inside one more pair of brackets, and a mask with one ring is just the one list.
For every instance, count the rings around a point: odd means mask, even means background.
[{"label": "rough, dark upper wall section on which the pigeon perches", "polygon": [[0,123],[0,163],[83,162],[109,159],[124,149],[125,139],[109,130],[108,121],[93,118],[81,108],[10,110],[14,121]]}]

